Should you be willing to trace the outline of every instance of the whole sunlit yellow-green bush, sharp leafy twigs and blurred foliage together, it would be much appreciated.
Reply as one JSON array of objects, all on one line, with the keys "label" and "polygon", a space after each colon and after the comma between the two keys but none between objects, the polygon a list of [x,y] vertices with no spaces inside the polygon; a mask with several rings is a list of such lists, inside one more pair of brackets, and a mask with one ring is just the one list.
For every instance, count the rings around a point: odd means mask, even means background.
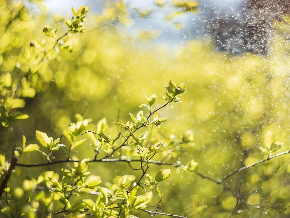
[{"label": "whole sunlit yellow-green bush, sharp leafy twigs and blurred foliage together", "polygon": [[[43,38],[45,18],[0,3],[1,217],[288,216],[289,61],[279,33],[270,57],[201,41],[172,57],[117,33],[130,20],[122,2],[90,17],[86,34],[87,7],[55,16],[45,41],[31,40]],[[187,90],[171,81],[161,104],[168,78]]]}]

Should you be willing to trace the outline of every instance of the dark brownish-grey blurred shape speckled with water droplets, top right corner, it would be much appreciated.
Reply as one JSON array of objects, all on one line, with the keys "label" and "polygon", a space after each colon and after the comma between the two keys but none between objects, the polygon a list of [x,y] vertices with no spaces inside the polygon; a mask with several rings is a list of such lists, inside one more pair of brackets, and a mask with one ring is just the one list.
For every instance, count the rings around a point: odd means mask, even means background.
[{"label": "dark brownish-grey blurred shape speckled with water droplets, top right corner", "polygon": [[290,14],[288,0],[249,0],[234,9],[234,14],[212,16],[207,20],[209,34],[218,51],[251,52],[269,55],[273,21]]}]

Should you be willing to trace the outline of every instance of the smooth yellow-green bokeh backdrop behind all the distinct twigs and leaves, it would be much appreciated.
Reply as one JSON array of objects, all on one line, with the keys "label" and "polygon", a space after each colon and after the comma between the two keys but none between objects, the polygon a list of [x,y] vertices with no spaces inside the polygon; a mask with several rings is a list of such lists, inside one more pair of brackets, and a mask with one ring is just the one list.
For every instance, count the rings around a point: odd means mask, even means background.
[{"label": "smooth yellow-green bokeh backdrop behind all the distinct twigs and leaves", "polygon": [[[4,5],[5,1],[0,2]],[[0,10],[4,13],[7,8],[1,6]],[[44,15],[31,15],[25,19],[6,31],[6,21],[0,20],[0,70],[1,74],[12,74],[13,71],[12,78],[21,76],[14,70],[16,62],[21,66],[34,65],[33,58],[24,58],[24,50],[29,51],[31,57],[39,55],[29,48],[31,39],[46,39],[48,47],[53,45],[41,31],[45,24],[55,25],[57,21]],[[93,16],[88,19],[90,21]],[[87,27],[93,29],[93,22],[88,22]],[[114,26],[104,26],[67,39],[72,43],[72,53],[60,51],[56,60],[41,63],[38,67],[41,81],[36,79],[37,82],[31,83],[37,94],[34,98],[25,98],[26,105],[21,109],[29,115],[28,120],[11,121],[8,128],[0,129],[1,150],[8,157],[13,144],[21,144],[23,134],[28,143],[36,142],[35,130],[60,137],[62,130],[75,121],[74,114],[81,114],[86,108],[83,116],[93,119],[88,129],[96,130],[97,121],[106,117],[111,127],[107,134],[115,135],[118,131],[113,122],[117,120],[118,111],[120,121],[128,121],[128,113],[137,114],[139,105],[145,102],[144,94],[157,94],[161,106],[163,86],[168,85],[169,80],[186,84],[186,92],[181,96],[183,103],[160,111],[160,116],[168,117],[168,121],[160,128],[153,128],[151,140],[164,138],[168,143],[174,138],[180,139],[186,130],[192,130],[194,144],[158,154],[156,160],[169,155],[164,160],[181,161],[185,165],[194,159],[199,163],[200,173],[219,180],[240,167],[265,158],[259,147],[264,146],[263,138],[268,130],[274,134],[275,141],[283,142],[279,152],[290,149],[290,62],[287,41],[279,34],[274,35],[271,55],[267,57],[219,53],[213,50],[210,42],[199,40],[189,41],[183,48],[175,48],[174,52],[158,44],[148,49],[140,46],[142,38],[137,44],[129,35],[118,34]],[[144,41],[146,43],[148,41]],[[93,158],[89,143],[87,139],[77,150],[79,158]],[[56,156],[63,157],[62,154]],[[45,160],[31,153],[21,157],[20,161],[40,163]],[[241,181],[241,203],[232,217],[288,217],[290,210],[279,213],[275,209],[289,206],[289,164],[289,156],[284,155],[226,180],[225,184],[235,192],[238,192]],[[53,165],[50,170],[60,172],[61,167],[64,165]],[[161,168],[152,166],[149,173],[155,175]],[[20,185],[25,174],[37,178],[44,170],[46,167],[18,169],[21,175],[11,178],[11,184]],[[90,171],[109,182],[116,175],[135,173],[125,163],[90,164]],[[197,206],[209,205],[195,216],[229,217],[236,204],[236,198],[230,192],[195,174],[183,173],[173,167],[171,172],[171,177],[162,183],[164,197],[160,208],[163,212],[193,216]],[[267,200],[266,208],[244,203],[261,205]],[[157,203],[158,199],[151,205]]]}]

